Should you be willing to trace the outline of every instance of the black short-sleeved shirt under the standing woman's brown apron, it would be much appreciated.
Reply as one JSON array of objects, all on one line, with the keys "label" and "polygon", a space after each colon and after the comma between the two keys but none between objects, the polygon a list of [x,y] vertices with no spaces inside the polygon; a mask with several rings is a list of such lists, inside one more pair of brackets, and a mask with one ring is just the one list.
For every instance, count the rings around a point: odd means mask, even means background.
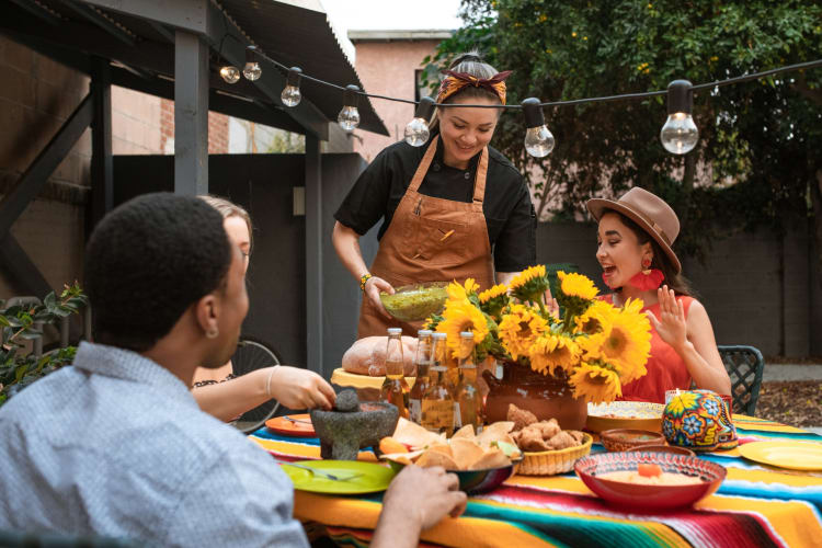
[{"label": "black short-sleeved shirt under the standing woman's brown apron", "polygon": [[[336,220],[358,235],[365,235],[385,218],[377,238],[388,229],[400,199],[406,194],[427,145],[412,147],[406,141],[385,148],[359,175],[354,187],[334,214]],[[520,272],[536,262],[536,215],[525,180],[507,158],[489,147],[488,175],[482,213],[494,255],[496,272]],[[480,155],[467,169],[443,162],[443,141],[420,193],[425,196],[470,203]]]}]

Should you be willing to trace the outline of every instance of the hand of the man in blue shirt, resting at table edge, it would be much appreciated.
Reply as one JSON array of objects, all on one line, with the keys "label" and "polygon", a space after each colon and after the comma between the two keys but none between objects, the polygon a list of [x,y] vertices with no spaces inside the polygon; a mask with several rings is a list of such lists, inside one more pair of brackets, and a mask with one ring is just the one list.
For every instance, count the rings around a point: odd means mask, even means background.
[{"label": "hand of the man in blue shirt, resting at table edge", "polygon": [[459,480],[443,467],[407,466],[391,481],[383,499],[383,513],[372,546],[416,546],[420,532],[430,529],[446,515],[460,516],[466,503]]}]

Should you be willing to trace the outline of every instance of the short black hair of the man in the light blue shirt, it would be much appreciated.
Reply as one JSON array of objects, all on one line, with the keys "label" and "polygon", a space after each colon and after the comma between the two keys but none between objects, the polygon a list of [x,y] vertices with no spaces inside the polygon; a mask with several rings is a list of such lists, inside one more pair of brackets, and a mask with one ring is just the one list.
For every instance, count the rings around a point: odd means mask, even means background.
[{"label": "short black hair of the man in the light blue shirt", "polygon": [[193,196],[153,193],[121,205],[85,250],[94,341],[149,350],[214,292],[231,264],[222,216]]}]

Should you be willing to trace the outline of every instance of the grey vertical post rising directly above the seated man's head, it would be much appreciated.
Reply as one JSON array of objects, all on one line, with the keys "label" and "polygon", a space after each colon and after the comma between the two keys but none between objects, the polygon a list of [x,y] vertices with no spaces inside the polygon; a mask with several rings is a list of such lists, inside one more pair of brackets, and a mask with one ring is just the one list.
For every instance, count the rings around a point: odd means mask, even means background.
[{"label": "grey vertical post rising directly above the seated man's head", "polygon": [[174,192],[208,193],[208,46],[174,35]]}]

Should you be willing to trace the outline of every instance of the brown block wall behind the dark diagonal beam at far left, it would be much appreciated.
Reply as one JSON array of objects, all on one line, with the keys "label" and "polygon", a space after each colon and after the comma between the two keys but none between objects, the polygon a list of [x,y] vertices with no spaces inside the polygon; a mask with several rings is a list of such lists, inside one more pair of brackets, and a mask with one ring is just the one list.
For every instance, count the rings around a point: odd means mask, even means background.
[{"label": "brown block wall behind the dark diagonal beam at far left", "polygon": [[[5,193],[87,95],[89,78],[4,36],[0,36],[0,193]],[[77,190],[89,185],[90,161],[91,132],[87,130],[11,228],[57,289],[81,276],[83,212],[78,196],[83,193]],[[64,202],[53,199],[57,196]],[[0,266],[0,298],[18,293]]]}]

